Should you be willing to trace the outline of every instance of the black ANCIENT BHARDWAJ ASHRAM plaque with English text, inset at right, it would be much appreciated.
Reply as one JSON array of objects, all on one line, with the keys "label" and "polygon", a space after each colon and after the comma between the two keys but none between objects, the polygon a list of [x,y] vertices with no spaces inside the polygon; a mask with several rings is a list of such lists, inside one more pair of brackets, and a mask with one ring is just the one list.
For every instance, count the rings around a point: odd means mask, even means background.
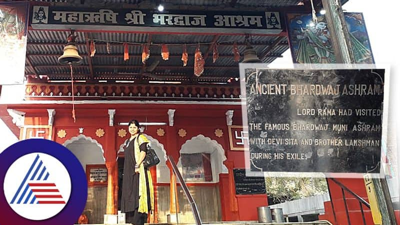
[{"label": "black ANCIENT BHARDWAJ ASHRAM plaque with English text, inset at right", "polygon": [[379,173],[384,72],[244,69],[250,171]]}]

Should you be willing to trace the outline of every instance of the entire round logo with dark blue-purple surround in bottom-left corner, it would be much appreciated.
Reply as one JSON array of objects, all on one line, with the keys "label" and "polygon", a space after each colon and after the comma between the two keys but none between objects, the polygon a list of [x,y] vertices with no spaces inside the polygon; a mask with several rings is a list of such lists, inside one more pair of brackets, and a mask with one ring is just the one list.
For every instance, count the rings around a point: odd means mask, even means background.
[{"label": "entire round logo with dark blue-purple surround in bottom-left corner", "polygon": [[72,225],[87,198],[78,159],[65,147],[28,139],[0,153],[0,225]]}]

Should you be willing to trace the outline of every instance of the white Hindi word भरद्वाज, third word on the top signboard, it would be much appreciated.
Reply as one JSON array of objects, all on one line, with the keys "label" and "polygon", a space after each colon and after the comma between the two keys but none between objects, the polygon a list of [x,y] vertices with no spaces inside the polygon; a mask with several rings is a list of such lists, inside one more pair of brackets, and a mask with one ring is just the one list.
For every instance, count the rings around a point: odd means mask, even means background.
[{"label": "white Hindi word \u092d\u0930\u0926\u094d\u0935\u093e\u091c, third word on the top signboard", "polygon": [[206,15],[153,14],[153,22],[160,25],[205,26]]}]

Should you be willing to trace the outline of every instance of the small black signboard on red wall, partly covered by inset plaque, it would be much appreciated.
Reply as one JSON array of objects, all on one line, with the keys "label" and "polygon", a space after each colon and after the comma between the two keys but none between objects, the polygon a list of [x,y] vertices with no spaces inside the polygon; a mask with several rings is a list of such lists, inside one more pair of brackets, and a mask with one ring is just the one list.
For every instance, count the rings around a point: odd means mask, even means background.
[{"label": "small black signboard on red wall, partly covered by inset plaque", "polygon": [[236,195],[265,194],[263,177],[246,177],[244,169],[233,169]]}]

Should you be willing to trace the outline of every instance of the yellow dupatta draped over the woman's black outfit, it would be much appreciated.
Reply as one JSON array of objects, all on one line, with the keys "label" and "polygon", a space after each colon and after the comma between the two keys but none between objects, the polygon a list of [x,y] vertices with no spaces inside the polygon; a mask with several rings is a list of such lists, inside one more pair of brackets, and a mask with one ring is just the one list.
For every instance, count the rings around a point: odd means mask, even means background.
[{"label": "yellow dupatta draped over the woman's black outfit", "polygon": [[[139,154],[140,154],[140,149],[139,146],[144,143],[144,142],[149,142],[148,139],[142,135],[139,134],[137,137],[137,141],[134,142],[134,158],[138,159]],[[140,164],[139,167],[139,213],[148,213],[148,205],[147,205],[147,188],[146,188],[146,177],[144,174],[144,167],[143,164]],[[153,182],[151,178],[151,173],[148,170],[147,171],[147,177],[148,177],[148,189],[150,190],[150,205],[151,205],[151,210],[154,210],[154,188],[153,188]]]}]

